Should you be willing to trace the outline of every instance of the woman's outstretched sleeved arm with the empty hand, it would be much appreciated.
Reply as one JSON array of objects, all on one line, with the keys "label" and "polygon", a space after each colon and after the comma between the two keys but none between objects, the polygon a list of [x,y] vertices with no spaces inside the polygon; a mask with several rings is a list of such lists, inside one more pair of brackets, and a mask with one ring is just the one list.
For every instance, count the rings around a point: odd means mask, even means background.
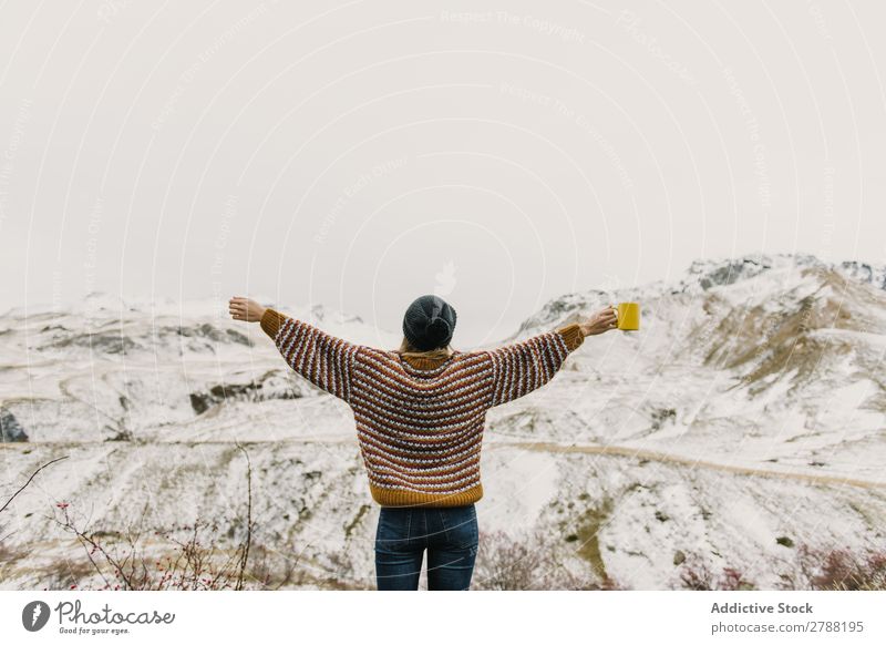
[{"label": "woman's outstretched sleeved arm with the empty hand", "polygon": [[318,388],[350,402],[351,370],[361,345],[248,298],[231,298],[229,308],[235,320],[259,322],[289,367]]}]

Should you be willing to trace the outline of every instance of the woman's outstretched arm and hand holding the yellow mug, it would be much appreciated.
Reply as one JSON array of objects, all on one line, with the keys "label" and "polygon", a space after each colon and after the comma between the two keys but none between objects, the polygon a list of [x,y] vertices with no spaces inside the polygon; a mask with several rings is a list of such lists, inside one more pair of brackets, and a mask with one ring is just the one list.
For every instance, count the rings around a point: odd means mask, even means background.
[{"label": "woman's outstretched arm and hand holding the yellow mug", "polygon": [[486,350],[493,365],[492,405],[507,403],[547,383],[586,336],[616,329],[615,311],[607,307],[581,322]]}]

